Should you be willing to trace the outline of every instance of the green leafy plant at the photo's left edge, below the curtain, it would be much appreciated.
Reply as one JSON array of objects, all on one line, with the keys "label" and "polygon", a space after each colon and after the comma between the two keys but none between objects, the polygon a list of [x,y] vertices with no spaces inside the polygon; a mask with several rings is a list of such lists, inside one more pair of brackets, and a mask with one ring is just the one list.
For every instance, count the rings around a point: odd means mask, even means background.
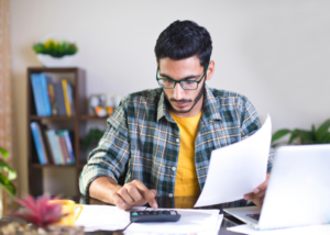
[{"label": "green leafy plant at the photo's left edge, below the curtain", "polygon": [[[8,152],[0,147],[0,153],[3,156],[3,158],[8,157]],[[12,169],[4,160],[0,159],[0,187],[4,189],[10,195],[14,197],[16,193],[16,189],[14,184],[11,182],[11,180],[16,178],[16,171]],[[3,175],[3,172],[7,172],[7,176]]]}]

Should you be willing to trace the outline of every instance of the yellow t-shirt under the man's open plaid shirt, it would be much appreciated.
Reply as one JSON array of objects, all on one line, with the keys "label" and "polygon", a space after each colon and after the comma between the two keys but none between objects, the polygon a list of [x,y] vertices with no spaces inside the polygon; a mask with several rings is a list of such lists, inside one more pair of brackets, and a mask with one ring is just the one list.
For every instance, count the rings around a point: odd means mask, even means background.
[{"label": "yellow t-shirt under the man's open plaid shirt", "polygon": [[180,149],[176,169],[175,197],[198,197],[200,187],[195,165],[195,141],[201,112],[196,116],[180,118],[170,113],[180,131]]}]

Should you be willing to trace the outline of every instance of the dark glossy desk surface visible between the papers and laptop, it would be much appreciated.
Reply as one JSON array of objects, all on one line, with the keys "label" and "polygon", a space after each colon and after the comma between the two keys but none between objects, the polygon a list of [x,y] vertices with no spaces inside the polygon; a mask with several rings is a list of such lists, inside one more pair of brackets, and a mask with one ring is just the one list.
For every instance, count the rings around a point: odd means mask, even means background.
[{"label": "dark glossy desk surface visible between the papers and laptop", "polygon": [[[74,197],[70,198],[72,200],[76,201],[77,203],[80,204],[107,204],[105,202],[101,202],[99,200],[92,199],[92,198],[85,198],[85,197]],[[157,197],[156,201],[158,203],[160,208],[176,208],[176,209],[193,209],[194,204],[197,201],[197,198],[165,198],[165,197]],[[227,204],[219,204],[219,205],[212,205],[212,206],[204,206],[200,209],[218,209],[220,210],[220,213],[223,213],[223,209],[226,208],[231,208],[231,206],[243,206],[244,201],[238,201],[235,203],[227,203]],[[147,205],[146,205],[147,206]],[[196,209],[198,210],[198,209]],[[6,225],[10,222],[19,222],[19,223],[24,223],[22,220],[6,215],[0,220],[0,226]],[[239,224],[243,224],[239,220],[235,220],[234,217],[231,216],[223,216],[223,221],[221,224],[221,228],[219,232],[219,235],[239,235],[239,233],[233,233],[230,231],[227,231],[227,227],[235,226]],[[92,232],[92,233],[85,233],[86,235],[122,235],[121,232]]]}]

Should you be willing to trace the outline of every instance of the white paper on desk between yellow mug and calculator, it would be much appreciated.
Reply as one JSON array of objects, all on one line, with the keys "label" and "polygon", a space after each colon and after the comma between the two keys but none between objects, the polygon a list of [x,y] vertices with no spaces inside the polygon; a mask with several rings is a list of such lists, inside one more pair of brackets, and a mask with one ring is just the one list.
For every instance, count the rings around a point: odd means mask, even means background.
[{"label": "white paper on desk between yellow mug and calculator", "polygon": [[[145,210],[145,206],[132,210]],[[76,222],[77,226],[85,226],[85,232],[123,230],[129,224],[130,212],[122,211],[114,205],[82,205],[82,211]]]}]

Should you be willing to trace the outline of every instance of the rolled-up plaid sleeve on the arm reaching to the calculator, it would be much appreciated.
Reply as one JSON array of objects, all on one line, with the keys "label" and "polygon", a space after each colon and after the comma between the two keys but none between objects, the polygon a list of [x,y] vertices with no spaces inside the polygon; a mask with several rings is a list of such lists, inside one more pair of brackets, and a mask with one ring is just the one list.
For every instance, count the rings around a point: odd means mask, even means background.
[{"label": "rolled-up plaid sleeve on the arm reaching to the calculator", "polygon": [[107,120],[107,130],[98,146],[90,152],[79,177],[80,193],[89,195],[89,186],[98,177],[118,181],[130,158],[124,100]]}]

